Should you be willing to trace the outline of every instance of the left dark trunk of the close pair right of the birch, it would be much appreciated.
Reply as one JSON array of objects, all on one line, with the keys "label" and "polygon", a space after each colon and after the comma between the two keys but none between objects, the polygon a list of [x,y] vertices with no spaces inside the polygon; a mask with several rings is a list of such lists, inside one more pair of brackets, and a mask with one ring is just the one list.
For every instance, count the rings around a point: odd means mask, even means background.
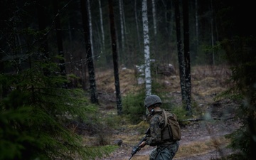
[{"label": "left dark trunk of the close pair right of the birch", "polygon": [[176,37],[177,37],[177,50],[178,50],[178,69],[179,77],[181,83],[181,99],[184,104],[186,100],[186,87],[185,87],[185,67],[183,61],[182,53],[182,43],[181,43],[181,15],[179,10],[178,0],[174,0],[174,9],[175,9],[175,20],[176,20]]}]

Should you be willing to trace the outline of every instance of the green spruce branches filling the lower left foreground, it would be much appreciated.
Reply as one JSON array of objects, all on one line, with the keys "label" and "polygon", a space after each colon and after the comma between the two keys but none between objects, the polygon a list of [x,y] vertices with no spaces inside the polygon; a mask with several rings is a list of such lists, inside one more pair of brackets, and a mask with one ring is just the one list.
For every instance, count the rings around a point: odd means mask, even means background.
[{"label": "green spruce branches filling the lower left foreground", "polygon": [[[43,74],[44,66],[49,75]],[[16,74],[1,74],[0,159],[95,159],[116,146],[85,146],[66,122],[86,122],[97,108],[83,90],[63,88],[55,63],[33,61],[33,67]]]}]

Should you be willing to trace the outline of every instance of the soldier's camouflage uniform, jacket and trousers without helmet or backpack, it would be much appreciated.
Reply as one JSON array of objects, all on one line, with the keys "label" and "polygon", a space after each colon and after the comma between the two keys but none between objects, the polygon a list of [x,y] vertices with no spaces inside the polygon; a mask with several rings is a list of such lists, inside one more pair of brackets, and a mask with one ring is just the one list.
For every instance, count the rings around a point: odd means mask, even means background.
[{"label": "soldier's camouflage uniform, jacket and trousers without helmet or backpack", "polygon": [[[161,111],[158,112],[161,113]],[[171,139],[163,139],[161,128],[164,127],[164,118],[156,113],[150,119],[150,137],[146,139],[147,145],[156,146],[149,158],[150,160],[171,160],[178,151],[179,143]]]}]

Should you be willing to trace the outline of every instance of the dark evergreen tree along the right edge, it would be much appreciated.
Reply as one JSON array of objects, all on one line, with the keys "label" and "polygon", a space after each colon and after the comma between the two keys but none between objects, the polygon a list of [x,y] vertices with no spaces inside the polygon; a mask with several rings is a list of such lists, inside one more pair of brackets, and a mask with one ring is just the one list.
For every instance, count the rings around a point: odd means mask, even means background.
[{"label": "dark evergreen tree along the right edge", "polygon": [[233,2],[216,1],[215,6],[220,46],[225,50],[232,73],[230,88],[222,95],[240,104],[234,115],[240,128],[227,137],[231,139],[229,146],[239,151],[234,159],[252,160],[256,159],[256,25],[245,17],[255,14],[255,9],[248,1]]}]

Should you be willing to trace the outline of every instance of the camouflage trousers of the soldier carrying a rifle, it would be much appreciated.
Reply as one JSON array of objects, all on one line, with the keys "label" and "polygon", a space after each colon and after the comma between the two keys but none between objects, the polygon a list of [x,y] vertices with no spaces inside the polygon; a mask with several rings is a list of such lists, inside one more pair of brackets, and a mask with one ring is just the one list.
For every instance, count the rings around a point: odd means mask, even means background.
[{"label": "camouflage trousers of the soldier carrying a rifle", "polygon": [[178,151],[178,141],[169,146],[157,146],[149,154],[149,160],[171,160]]}]

